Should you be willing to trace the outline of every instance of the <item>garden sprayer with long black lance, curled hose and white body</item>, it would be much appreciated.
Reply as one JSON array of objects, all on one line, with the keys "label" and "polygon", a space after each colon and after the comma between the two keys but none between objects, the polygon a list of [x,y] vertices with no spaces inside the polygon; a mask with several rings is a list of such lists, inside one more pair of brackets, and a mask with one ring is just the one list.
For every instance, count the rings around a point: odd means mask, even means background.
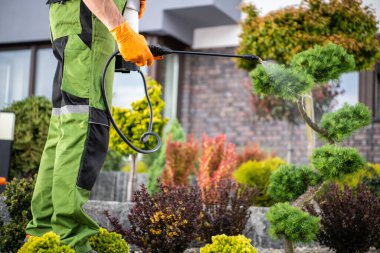
[{"label": "garden sprayer with long black lance, curled hose and white body", "polygon": [[[138,32],[138,11],[140,8],[140,1],[139,0],[129,0],[126,6],[126,9],[124,11],[124,17],[126,18],[128,24],[131,26],[131,28],[135,31]],[[206,52],[193,52],[193,51],[177,51],[177,50],[172,50],[166,47],[161,47],[160,45],[149,45],[149,49],[152,52],[153,56],[165,56],[165,55],[170,55],[170,54],[179,54],[179,55],[191,55],[191,56],[214,56],[214,57],[227,57],[227,58],[240,58],[244,59],[247,61],[253,61],[255,63],[262,63],[262,60],[256,56],[256,55],[236,55],[236,54],[219,54],[219,53],[206,53]],[[148,141],[148,138],[150,136],[153,136],[157,144],[153,149],[150,150],[142,150],[140,148],[137,148],[136,146],[133,145],[133,143],[123,134],[123,132],[119,129],[117,126],[115,120],[112,117],[112,113],[109,107],[108,99],[107,99],[107,93],[106,93],[106,73],[108,70],[108,67],[112,60],[115,59],[115,72],[119,73],[130,73],[132,71],[136,71],[140,74],[141,79],[144,84],[144,92],[145,96],[148,102],[149,106],[149,126],[148,126],[148,131],[142,134],[140,138],[140,142],[146,143]],[[156,152],[160,147],[161,147],[161,138],[157,133],[152,132],[153,128],[153,108],[152,104],[150,102],[149,94],[148,94],[148,88],[145,80],[144,74],[141,72],[140,68],[131,63],[131,62],[126,62],[123,60],[121,57],[119,50],[116,50],[107,60],[106,65],[103,70],[103,76],[102,76],[102,82],[101,82],[101,92],[102,92],[102,97],[103,97],[103,102],[105,105],[105,110],[107,117],[109,118],[111,124],[115,128],[116,132],[119,134],[119,136],[136,152],[142,153],[142,154],[151,154]]]}]

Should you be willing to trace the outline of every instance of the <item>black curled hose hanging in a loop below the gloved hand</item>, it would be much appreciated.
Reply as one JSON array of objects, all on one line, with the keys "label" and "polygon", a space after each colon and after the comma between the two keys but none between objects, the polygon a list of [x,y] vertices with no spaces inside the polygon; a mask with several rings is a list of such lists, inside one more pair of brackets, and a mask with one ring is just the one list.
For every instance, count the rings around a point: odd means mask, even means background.
[{"label": "black curled hose hanging in a loop below the gloved hand", "polygon": [[111,113],[111,110],[110,110],[110,107],[109,107],[109,103],[108,103],[108,99],[107,99],[107,92],[106,92],[106,73],[107,73],[107,70],[108,70],[108,66],[110,65],[111,61],[113,60],[113,58],[119,54],[119,50],[116,50],[107,60],[106,62],[106,65],[104,67],[104,70],[103,70],[103,76],[102,76],[102,83],[101,83],[101,92],[102,92],[102,97],[103,97],[103,102],[104,102],[104,107],[105,107],[105,110],[106,110],[106,115],[108,117],[108,119],[110,120],[111,124],[113,125],[113,127],[115,128],[116,132],[119,134],[119,136],[123,139],[123,141],[125,141],[134,151],[138,152],[138,153],[142,153],[142,154],[151,154],[151,153],[154,153],[156,152],[160,147],[161,147],[161,138],[158,134],[152,132],[152,128],[153,128],[153,108],[152,108],[152,103],[150,101],[150,98],[149,98],[149,93],[148,93],[148,88],[147,88],[147,85],[146,85],[146,80],[145,80],[145,77],[144,77],[144,74],[141,72],[140,69],[138,69],[138,72],[144,82],[144,91],[145,91],[145,96],[146,96],[146,99],[148,101],[148,106],[149,106],[149,127],[148,127],[148,131],[145,132],[144,134],[141,135],[140,137],[140,142],[142,143],[146,143],[148,141],[148,138],[149,136],[154,136],[157,140],[157,145],[153,148],[153,149],[150,149],[150,150],[143,150],[143,149],[139,149],[137,148],[136,146],[133,145],[133,143],[123,134],[123,132],[119,129],[119,127],[117,126],[114,118],[112,117],[112,113]]}]

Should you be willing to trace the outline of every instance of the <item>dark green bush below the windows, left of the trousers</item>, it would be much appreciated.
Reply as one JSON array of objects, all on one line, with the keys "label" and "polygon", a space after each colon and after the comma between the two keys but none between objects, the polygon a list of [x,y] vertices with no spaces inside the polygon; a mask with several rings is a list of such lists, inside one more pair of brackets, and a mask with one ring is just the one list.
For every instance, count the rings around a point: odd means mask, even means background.
[{"label": "dark green bush below the windows, left of the trousers", "polygon": [[30,97],[3,110],[16,114],[10,178],[30,177],[38,171],[51,109],[51,103],[46,98]]}]

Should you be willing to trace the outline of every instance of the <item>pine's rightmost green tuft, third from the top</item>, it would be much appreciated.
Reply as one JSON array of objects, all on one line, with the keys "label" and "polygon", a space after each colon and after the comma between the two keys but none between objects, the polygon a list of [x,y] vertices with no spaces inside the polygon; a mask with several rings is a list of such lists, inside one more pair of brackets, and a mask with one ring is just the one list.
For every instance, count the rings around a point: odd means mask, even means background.
[{"label": "pine's rightmost green tuft, third from the top", "polygon": [[356,105],[345,103],[339,110],[324,114],[320,127],[326,130],[332,140],[341,142],[356,130],[369,124],[371,124],[371,112],[367,106],[361,103]]}]

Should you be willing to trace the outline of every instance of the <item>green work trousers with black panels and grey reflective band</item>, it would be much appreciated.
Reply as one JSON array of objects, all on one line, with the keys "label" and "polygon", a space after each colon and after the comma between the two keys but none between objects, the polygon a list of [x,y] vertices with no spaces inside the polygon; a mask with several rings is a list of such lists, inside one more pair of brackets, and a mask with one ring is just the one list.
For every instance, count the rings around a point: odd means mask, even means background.
[{"label": "green work trousers with black panels and grey reflective band", "polygon": [[[115,3],[122,12],[126,0]],[[50,28],[58,60],[53,113],[32,198],[33,219],[26,233],[42,236],[53,231],[63,244],[86,253],[91,250],[88,238],[99,229],[83,205],[108,149],[109,122],[100,80],[115,41],[82,0],[51,3]],[[112,82],[110,68],[107,94],[112,94]]]}]

